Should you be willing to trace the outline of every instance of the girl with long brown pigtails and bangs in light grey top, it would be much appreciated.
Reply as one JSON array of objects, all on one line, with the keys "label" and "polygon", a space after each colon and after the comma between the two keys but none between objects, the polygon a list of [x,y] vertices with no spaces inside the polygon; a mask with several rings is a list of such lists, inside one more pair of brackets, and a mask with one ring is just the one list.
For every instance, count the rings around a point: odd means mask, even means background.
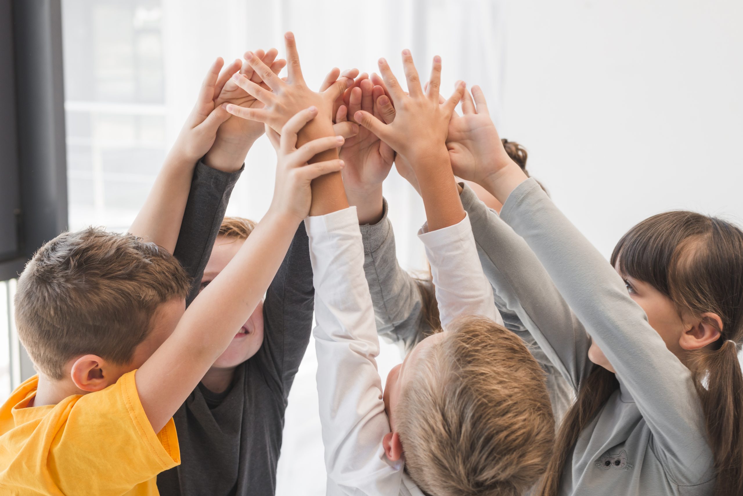
[{"label": "girl with long brown pigtails and bangs in light grey top", "polygon": [[[666,212],[609,265],[490,143],[496,160],[452,162],[504,203],[465,206],[485,272],[577,391],[538,494],[743,494],[741,229]],[[571,325],[534,325],[565,311]]]}]

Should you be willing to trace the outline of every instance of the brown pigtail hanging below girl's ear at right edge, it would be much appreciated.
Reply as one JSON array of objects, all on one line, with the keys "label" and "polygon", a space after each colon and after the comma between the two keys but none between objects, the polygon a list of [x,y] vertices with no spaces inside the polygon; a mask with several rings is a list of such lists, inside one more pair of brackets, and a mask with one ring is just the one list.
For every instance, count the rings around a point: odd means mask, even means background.
[{"label": "brown pigtail hanging below girl's ear at right edge", "polygon": [[731,339],[695,360],[694,382],[715,454],[716,495],[743,494],[743,373]]}]

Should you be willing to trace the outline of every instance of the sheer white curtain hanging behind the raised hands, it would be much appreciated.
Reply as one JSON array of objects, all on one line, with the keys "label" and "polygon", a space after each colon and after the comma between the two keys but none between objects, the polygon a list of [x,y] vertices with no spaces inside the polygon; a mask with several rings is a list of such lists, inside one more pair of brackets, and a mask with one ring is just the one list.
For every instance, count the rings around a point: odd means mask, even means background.
[{"label": "sheer white curtain hanging behind the raised hands", "polygon": [[[302,71],[309,84],[319,86],[333,67],[377,71],[385,57],[395,74],[403,75],[400,51],[412,50],[421,78],[432,57],[443,59],[442,88],[453,90],[457,79],[478,84],[489,97],[493,115],[500,114],[504,65],[504,9],[492,0],[163,0],[163,56],[169,140],[175,138],[189,111],[203,73],[215,56],[229,61],[245,50],[276,47],[284,53],[283,33],[297,39]],[[442,93],[444,92],[442,91]],[[273,193],[275,155],[267,140],[250,150],[227,210],[229,215],[259,219]],[[426,267],[415,232],[424,221],[418,195],[395,172],[384,185],[390,218],[395,226],[400,263],[410,270]],[[383,347],[380,373],[400,356]],[[325,493],[325,468],[317,417],[314,343],[289,397],[285,437],[278,471],[278,495]]]}]

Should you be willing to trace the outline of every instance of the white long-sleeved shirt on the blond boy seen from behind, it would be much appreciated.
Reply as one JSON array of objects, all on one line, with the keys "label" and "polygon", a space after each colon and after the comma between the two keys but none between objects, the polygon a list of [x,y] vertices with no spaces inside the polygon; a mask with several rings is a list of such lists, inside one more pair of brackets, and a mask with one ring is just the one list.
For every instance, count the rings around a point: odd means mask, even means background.
[{"label": "white long-sleeved shirt on the blond boy seen from behind", "polygon": [[[328,495],[422,496],[388,460],[382,439],[389,420],[377,371],[379,339],[356,208],[305,220],[314,273],[317,392]],[[425,231],[421,229],[421,231]],[[459,315],[502,322],[478,258],[469,218],[421,232],[444,330]]]}]

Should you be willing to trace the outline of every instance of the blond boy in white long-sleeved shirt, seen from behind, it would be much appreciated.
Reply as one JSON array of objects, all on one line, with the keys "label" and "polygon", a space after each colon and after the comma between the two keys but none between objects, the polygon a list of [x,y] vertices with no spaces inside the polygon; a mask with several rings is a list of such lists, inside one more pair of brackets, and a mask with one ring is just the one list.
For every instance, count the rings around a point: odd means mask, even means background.
[{"label": "blond boy in white long-sleeved shirt, seen from behind", "polygon": [[[421,239],[438,286],[444,332],[415,347],[390,372],[383,391],[356,209],[305,221],[328,494],[517,495],[536,480],[551,449],[553,420],[543,376],[522,342],[496,323],[490,285],[458,202],[444,140],[462,88],[439,105],[438,57],[437,84],[428,94],[419,84],[415,88],[409,52],[404,61],[411,96],[400,96],[403,117],[399,127],[377,131],[425,177],[428,223]],[[386,63],[380,65],[392,79]],[[336,187],[330,193],[344,196],[343,186]]]}]

